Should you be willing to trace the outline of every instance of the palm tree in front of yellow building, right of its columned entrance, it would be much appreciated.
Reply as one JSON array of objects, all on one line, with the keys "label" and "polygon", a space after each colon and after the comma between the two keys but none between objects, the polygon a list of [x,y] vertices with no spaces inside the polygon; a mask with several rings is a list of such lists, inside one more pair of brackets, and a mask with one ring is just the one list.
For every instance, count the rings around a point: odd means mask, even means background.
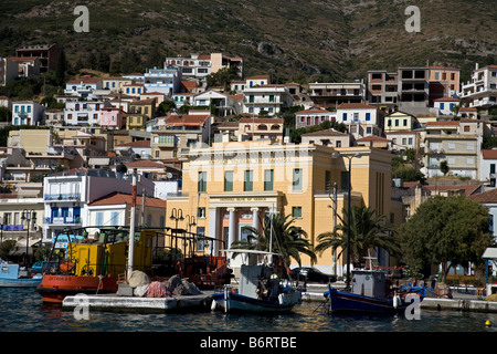
[{"label": "palm tree in front of yellow building, right of its columned entrance", "polygon": [[[289,215],[274,216],[273,227],[271,225],[271,217],[264,218],[264,220],[261,220],[261,230],[252,226],[244,227],[251,233],[246,240],[233,242],[232,248],[268,251],[269,240],[272,239],[272,250],[275,253],[283,254],[286,264],[289,264],[290,258],[293,258],[300,266],[300,253],[307,254],[313,261],[316,261],[316,254],[313,252],[310,242],[307,240],[307,233],[293,226],[294,219],[289,219]],[[272,230],[273,237],[271,237]]]}]

